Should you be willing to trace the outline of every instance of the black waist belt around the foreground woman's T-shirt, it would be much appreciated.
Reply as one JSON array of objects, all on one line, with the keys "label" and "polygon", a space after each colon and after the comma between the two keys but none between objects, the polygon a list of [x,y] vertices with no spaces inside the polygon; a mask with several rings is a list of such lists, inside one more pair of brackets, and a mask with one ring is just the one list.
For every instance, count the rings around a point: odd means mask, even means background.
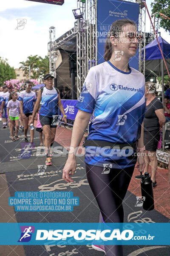
[{"label": "black waist belt around the foreground woman's T-shirt", "polygon": [[122,149],[124,147],[132,147],[135,149],[138,145],[138,140],[136,142],[130,143],[111,143],[105,140],[87,140],[88,137],[85,137],[83,141],[83,147],[86,146],[93,146],[93,147],[101,147],[101,148],[115,148],[115,149]]}]

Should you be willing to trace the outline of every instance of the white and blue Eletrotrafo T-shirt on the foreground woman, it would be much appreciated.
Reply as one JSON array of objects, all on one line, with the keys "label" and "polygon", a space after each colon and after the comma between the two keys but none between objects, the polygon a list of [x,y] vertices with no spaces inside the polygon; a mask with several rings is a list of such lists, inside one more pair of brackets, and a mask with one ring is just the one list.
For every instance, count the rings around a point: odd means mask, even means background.
[{"label": "white and blue Eletrotrafo T-shirt on the foreground woman", "polygon": [[[76,105],[76,108],[92,113],[87,140],[136,142],[140,138],[146,109],[144,85],[144,76],[134,68],[124,72],[110,61],[91,67]],[[116,169],[136,163],[136,157],[127,157],[128,150],[126,153],[114,148],[104,150],[86,146],[85,163],[102,167],[111,164],[110,168]]]}]

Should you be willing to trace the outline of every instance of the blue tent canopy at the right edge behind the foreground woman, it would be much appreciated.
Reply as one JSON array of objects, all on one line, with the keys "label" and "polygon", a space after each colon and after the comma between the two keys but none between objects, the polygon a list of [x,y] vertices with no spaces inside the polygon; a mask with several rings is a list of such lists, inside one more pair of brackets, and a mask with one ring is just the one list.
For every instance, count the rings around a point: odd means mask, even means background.
[{"label": "blue tent canopy at the right edge behind the foreground woman", "polygon": [[[163,52],[167,68],[170,69],[170,44],[167,43],[161,36],[158,37],[161,50]],[[142,48],[142,57],[144,56],[144,48]],[[165,64],[163,64],[163,70],[161,70],[161,62],[163,61],[161,51],[159,49],[158,42],[156,38],[145,47],[145,74],[152,76],[161,76],[163,71],[164,75],[167,75],[167,69]],[[164,61],[163,61],[164,62]]]}]

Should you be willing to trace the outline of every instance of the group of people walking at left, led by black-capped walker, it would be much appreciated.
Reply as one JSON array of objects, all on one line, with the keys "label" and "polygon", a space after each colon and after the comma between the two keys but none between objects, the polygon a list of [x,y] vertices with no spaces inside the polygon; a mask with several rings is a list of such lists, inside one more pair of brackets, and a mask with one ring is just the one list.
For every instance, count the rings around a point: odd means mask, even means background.
[{"label": "group of people walking at left, led by black-capped walker", "polygon": [[[45,164],[50,166],[52,158],[52,145],[54,143],[56,127],[53,122],[58,115],[58,108],[62,113],[62,121],[67,122],[64,108],[62,106],[59,90],[53,86],[53,76],[44,76],[45,87],[42,87],[37,95],[32,90],[31,81],[26,81],[22,90],[17,87],[4,85],[0,91],[0,109],[3,129],[10,129],[12,141],[19,140],[18,130],[24,132],[24,141],[28,143],[28,128],[30,131],[30,143],[34,143],[34,121],[37,121],[36,130],[40,134],[40,146],[45,145]],[[42,136],[43,134],[43,136]]]}]

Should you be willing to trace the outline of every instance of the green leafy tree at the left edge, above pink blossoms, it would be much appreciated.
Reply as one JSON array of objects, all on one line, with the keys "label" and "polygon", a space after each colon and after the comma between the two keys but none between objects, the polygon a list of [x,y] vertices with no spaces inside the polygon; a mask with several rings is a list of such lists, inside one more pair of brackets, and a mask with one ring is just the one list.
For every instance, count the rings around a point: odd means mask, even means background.
[{"label": "green leafy tree at the left edge, above pink blossoms", "polygon": [[7,59],[0,57],[0,86],[3,85],[3,82],[9,79],[16,79],[17,75],[15,73],[14,67],[11,67],[8,64]]}]

